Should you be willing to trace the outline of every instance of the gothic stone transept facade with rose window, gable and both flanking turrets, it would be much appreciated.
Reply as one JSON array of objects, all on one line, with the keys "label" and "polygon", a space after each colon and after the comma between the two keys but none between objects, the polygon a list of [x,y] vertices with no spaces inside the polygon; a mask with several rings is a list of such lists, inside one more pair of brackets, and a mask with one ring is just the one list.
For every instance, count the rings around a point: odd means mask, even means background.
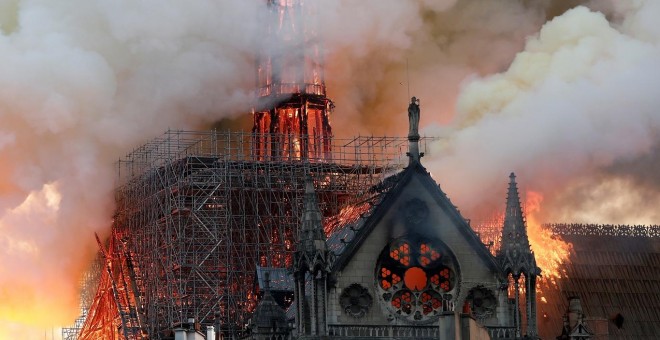
[{"label": "gothic stone transept facade with rose window, gable and both flanking turrets", "polygon": [[[420,163],[418,136],[409,141],[409,166],[365,193],[357,216],[339,218],[327,239],[308,185],[292,268],[291,337],[537,338],[539,269],[515,177],[504,226],[515,237],[503,234],[496,258]],[[524,308],[508,287],[521,275],[532,292]]]}]

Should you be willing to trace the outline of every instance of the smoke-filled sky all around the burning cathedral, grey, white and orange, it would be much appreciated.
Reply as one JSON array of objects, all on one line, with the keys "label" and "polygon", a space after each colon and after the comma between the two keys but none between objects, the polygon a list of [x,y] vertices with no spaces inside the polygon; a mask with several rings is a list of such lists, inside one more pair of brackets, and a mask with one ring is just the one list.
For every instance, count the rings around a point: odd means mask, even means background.
[{"label": "smoke-filled sky all around the burning cathedral, grey, white and orange", "polygon": [[[515,171],[543,220],[660,221],[658,1],[317,3],[336,135],[405,135],[409,88],[467,217]],[[249,111],[264,8],[0,0],[0,339],[76,316],[116,159]]]}]

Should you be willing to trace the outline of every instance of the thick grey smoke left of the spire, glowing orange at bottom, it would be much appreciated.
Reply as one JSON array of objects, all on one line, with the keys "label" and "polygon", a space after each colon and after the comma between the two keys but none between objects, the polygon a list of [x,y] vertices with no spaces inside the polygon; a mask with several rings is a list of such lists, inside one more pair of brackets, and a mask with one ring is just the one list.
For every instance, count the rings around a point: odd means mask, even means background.
[{"label": "thick grey smoke left of the spire, glowing orange at bottom", "polygon": [[42,338],[16,323],[77,316],[116,159],[168,128],[248,111],[263,7],[0,1],[0,338]]}]

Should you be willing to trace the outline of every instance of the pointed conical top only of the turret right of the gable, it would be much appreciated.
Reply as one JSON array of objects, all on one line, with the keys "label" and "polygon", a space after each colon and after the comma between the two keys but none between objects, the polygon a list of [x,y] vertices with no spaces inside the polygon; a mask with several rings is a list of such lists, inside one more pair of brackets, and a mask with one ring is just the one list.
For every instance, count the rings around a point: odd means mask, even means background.
[{"label": "pointed conical top only of the turret right of the gable", "polygon": [[497,257],[502,268],[514,276],[520,276],[520,274],[538,275],[540,270],[536,267],[536,259],[529,245],[527,226],[525,225],[516,184],[516,175],[512,172],[509,178],[509,192],[502,228],[502,246]]}]

